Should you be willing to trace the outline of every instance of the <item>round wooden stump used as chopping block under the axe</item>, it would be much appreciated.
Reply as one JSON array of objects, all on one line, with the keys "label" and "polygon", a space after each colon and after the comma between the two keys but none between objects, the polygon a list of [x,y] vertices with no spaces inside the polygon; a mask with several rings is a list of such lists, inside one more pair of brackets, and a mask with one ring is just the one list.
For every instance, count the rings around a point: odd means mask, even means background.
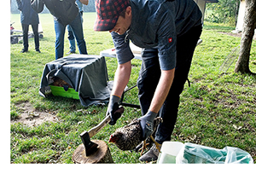
[{"label": "round wooden stump used as chopping block under the axe", "polygon": [[106,142],[101,140],[91,140],[91,142],[98,144],[96,152],[86,156],[84,144],[80,144],[73,152],[72,160],[75,164],[113,163],[113,159]]}]

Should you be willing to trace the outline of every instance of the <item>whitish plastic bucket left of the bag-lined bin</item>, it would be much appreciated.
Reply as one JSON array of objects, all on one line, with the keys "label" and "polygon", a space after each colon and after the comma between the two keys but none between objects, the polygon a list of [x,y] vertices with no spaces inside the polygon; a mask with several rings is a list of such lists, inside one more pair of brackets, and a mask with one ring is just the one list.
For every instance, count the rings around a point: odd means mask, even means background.
[{"label": "whitish plastic bucket left of the bag-lined bin", "polygon": [[176,156],[183,146],[183,142],[163,142],[157,163],[175,164]]}]

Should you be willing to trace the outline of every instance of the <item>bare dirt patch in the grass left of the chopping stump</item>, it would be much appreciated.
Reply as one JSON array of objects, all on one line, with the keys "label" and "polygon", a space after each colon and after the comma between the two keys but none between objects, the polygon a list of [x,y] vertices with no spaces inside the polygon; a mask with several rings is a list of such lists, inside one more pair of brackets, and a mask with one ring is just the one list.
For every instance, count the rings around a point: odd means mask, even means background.
[{"label": "bare dirt patch in the grass left of the chopping stump", "polygon": [[18,118],[11,120],[11,124],[20,122],[21,124],[28,125],[30,127],[41,125],[46,121],[57,122],[55,112],[51,111],[38,111],[29,102],[20,103],[17,105],[20,108],[20,115]]}]

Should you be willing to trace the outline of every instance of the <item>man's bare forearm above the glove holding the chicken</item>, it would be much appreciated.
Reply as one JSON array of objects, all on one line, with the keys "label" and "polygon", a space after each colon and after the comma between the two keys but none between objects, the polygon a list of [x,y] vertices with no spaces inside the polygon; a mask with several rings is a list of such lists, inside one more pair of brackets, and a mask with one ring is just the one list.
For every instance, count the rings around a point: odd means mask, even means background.
[{"label": "man's bare forearm above the glove holding the chicken", "polygon": [[172,86],[174,72],[175,69],[161,72],[160,81],[156,87],[154,97],[149,107],[151,112],[158,113],[160,111],[160,107],[162,107],[165,102],[166,96]]}]

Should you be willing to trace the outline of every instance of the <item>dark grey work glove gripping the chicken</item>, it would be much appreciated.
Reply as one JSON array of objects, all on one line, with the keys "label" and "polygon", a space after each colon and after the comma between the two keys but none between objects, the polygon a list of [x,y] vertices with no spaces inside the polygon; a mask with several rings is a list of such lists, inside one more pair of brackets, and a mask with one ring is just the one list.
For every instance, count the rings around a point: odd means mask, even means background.
[{"label": "dark grey work glove gripping the chicken", "polygon": [[152,134],[154,129],[154,118],[156,116],[157,113],[148,110],[148,113],[146,113],[143,117],[139,118],[139,120],[141,120],[140,125],[143,129],[142,141]]}]

